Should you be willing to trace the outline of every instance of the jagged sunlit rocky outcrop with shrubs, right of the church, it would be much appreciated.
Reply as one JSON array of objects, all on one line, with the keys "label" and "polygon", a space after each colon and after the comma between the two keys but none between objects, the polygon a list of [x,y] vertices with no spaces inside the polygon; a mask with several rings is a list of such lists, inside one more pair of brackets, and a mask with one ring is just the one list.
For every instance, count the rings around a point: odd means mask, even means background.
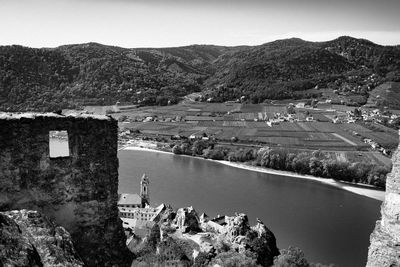
[{"label": "jagged sunlit rocky outcrop with shrubs, right of the church", "polygon": [[[179,251],[183,250],[193,261],[197,261],[197,257],[202,258],[199,260],[201,264],[196,266],[208,266],[212,258],[226,253],[249,256],[261,266],[271,266],[274,257],[279,255],[274,234],[258,219],[257,224],[251,227],[244,213],[218,216],[212,220],[202,214],[200,218],[192,207],[181,208],[176,213],[172,208],[167,208],[158,222],[159,235],[155,235],[153,229],[144,242],[147,245],[132,238],[129,244],[133,248],[131,251],[138,255],[135,266],[149,259],[152,259],[151,263],[154,265],[154,257],[158,255],[156,251],[159,251],[160,244],[171,238],[177,247],[172,251],[168,250],[167,254],[179,256]],[[152,264],[146,266],[153,266]]]}]

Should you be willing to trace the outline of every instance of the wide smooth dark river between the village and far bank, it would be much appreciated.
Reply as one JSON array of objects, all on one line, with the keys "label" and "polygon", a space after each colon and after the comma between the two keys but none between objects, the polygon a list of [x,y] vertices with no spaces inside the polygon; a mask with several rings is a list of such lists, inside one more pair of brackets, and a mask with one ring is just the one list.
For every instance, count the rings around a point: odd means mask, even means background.
[{"label": "wide smooth dark river between the village and far bank", "polygon": [[312,262],[365,266],[381,202],[316,181],[259,173],[158,152],[118,152],[119,192],[139,193],[150,178],[150,202],[193,206],[200,214],[243,212],[261,219],[278,247],[301,248]]}]

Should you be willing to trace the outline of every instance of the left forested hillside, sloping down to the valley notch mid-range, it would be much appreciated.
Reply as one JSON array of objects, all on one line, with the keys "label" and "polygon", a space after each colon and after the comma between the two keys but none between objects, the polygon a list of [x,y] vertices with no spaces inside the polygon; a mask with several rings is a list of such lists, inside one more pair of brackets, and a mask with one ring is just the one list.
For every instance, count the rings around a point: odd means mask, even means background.
[{"label": "left forested hillside, sloping down to the valley notch mid-range", "polygon": [[167,104],[201,91],[231,48],[126,49],[97,43],[0,47],[0,110],[57,110],[117,101]]}]

